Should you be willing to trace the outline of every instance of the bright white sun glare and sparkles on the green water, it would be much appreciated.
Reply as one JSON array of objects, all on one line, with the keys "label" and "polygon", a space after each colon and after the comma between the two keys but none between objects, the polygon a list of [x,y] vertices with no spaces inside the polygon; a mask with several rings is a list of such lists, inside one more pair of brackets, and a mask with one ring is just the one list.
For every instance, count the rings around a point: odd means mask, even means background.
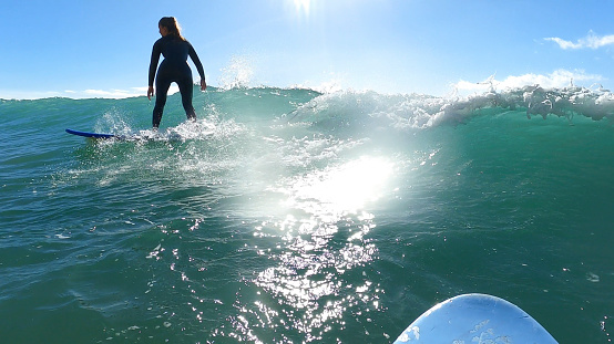
[{"label": "bright white sun glare and sparkles on the green water", "polygon": [[269,253],[276,264],[254,281],[272,298],[258,302],[260,319],[277,315],[267,326],[294,327],[310,342],[331,326],[345,329],[348,313],[379,310],[382,290],[359,267],[377,254],[365,238],[375,227],[366,206],[383,195],[391,174],[386,158],[361,157],[285,183],[285,218],[257,228],[280,241]]}]

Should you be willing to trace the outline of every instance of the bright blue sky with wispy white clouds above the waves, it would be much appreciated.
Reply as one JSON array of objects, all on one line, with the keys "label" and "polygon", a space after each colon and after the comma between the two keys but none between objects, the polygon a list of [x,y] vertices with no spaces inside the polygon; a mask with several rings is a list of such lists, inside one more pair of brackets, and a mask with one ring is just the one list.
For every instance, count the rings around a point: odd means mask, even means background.
[{"label": "bright blue sky with wispy white clouds above the waves", "polygon": [[144,95],[165,15],[214,86],[247,75],[253,86],[444,95],[494,74],[500,87],[573,77],[612,88],[612,13],[605,0],[9,0],[0,98]]}]

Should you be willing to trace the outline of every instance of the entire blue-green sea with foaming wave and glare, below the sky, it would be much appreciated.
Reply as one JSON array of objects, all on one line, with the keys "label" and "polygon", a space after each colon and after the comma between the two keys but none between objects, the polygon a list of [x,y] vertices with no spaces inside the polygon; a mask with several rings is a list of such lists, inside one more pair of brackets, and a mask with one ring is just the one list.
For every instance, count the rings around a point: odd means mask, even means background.
[{"label": "entire blue-green sea with foaming wave and glare, below the sky", "polygon": [[1,343],[391,343],[473,292],[612,340],[612,93],[194,104],[0,101]]}]

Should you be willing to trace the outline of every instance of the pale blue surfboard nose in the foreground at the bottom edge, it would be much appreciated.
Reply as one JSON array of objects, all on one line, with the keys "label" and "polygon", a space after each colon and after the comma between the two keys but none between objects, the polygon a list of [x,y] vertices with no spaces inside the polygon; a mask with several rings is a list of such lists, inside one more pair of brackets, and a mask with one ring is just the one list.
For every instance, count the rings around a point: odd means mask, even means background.
[{"label": "pale blue surfboard nose in the foreground at the bottom edge", "polygon": [[464,294],[436,304],[412,322],[393,344],[406,343],[557,344],[523,310],[485,294]]}]

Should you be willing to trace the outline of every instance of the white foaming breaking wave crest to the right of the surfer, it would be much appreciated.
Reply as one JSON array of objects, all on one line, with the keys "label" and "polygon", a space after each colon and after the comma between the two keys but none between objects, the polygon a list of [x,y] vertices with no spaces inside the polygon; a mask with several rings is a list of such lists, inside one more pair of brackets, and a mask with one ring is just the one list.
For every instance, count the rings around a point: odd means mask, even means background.
[{"label": "white foaming breaking wave crest to the right of the surfer", "polygon": [[[491,110],[484,112],[484,110]],[[503,92],[489,91],[465,97],[422,94],[381,94],[373,91],[342,91],[323,94],[297,108],[289,121],[349,125],[386,118],[398,128],[423,129],[441,124],[460,124],[485,113],[524,112],[528,118],[549,115],[614,119],[614,95],[607,90],[585,87],[543,88],[525,86]],[[335,123],[336,122],[336,123]]]}]

